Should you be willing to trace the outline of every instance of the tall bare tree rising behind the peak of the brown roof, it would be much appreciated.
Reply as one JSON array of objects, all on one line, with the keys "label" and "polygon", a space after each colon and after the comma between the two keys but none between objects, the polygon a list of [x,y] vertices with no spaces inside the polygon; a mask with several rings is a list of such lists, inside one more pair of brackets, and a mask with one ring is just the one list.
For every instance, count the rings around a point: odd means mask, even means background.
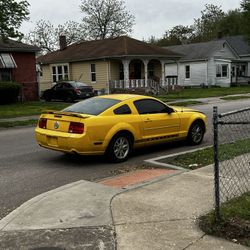
[{"label": "tall bare tree rising behind the peak of the brown roof", "polygon": [[128,35],[132,32],[135,17],[123,0],[82,0],[82,19],[89,39],[104,39]]}]

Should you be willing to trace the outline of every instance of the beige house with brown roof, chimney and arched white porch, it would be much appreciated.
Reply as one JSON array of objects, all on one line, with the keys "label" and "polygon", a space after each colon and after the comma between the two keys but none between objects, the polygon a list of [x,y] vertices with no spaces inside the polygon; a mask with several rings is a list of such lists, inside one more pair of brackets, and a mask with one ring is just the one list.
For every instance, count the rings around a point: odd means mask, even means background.
[{"label": "beige house with brown roof, chimney and arched white porch", "polygon": [[[70,46],[66,46],[65,37],[60,37],[60,50],[37,60],[42,70],[40,90],[61,80],[85,82],[106,92],[164,85],[165,64],[180,57],[168,49],[127,36]],[[177,79],[173,81],[177,84]]]}]

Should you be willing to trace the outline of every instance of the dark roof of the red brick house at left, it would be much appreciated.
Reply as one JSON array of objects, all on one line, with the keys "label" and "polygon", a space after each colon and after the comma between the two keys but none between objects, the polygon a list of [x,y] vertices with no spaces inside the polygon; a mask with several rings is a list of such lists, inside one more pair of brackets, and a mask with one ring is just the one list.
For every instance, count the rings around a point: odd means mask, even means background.
[{"label": "dark roof of the red brick house at left", "polygon": [[3,41],[0,39],[0,51],[1,52],[37,52],[40,48],[37,46],[25,44],[22,42],[8,39]]}]

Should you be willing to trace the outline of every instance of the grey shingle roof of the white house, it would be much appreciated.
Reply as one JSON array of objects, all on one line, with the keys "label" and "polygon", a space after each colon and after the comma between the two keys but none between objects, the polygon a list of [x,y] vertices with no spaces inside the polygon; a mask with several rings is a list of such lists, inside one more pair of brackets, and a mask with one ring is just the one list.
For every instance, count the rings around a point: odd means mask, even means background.
[{"label": "grey shingle roof of the white house", "polygon": [[225,42],[228,43],[239,56],[250,54],[250,46],[243,36],[231,36],[215,41],[168,46],[164,48],[183,54],[184,57],[182,57],[181,60],[204,60],[211,57],[216,51],[222,49]]}]

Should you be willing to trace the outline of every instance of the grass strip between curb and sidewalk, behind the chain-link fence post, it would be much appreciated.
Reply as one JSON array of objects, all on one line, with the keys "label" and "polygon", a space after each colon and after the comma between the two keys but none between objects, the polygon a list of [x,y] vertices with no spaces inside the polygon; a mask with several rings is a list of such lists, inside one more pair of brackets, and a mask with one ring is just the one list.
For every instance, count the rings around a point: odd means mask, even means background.
[{"label": "grass strip between curb and sidewalk, behind the chain-link fence post", "polygon": [[[234,143],[219,146],[219,159],[225,161],[236,156],[250,152],[250,139],[239,140]],[[205,148],[192,153],[182,154],[171,158],[162,159],[161,162],[180,166],[188,169],[196,169],[214,163],[213,148]]]}]

